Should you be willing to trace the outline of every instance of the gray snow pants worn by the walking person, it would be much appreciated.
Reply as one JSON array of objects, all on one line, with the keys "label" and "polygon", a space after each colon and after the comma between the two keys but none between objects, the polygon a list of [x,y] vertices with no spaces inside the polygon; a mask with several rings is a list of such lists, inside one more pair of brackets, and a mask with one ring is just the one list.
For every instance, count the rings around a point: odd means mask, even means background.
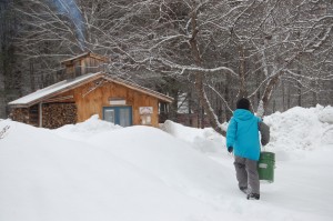
[{"label": "gray snow pants worn by the walking person", "polygon": [[233,164],[236,171],[239,188],[248,188],[249,193],[260,194],[258,161],[235,155]]}]

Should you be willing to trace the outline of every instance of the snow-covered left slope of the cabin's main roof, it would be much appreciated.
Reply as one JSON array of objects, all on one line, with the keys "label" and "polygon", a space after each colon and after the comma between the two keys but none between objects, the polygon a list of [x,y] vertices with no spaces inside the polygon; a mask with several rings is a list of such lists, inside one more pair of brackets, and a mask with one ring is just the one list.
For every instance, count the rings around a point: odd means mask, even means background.
[{"label": "snow-covered left slope of the cabin's main roof", "polygon": [[32,92],[28,96],[19,98],[18,100],[11,101],[8,104],[9,106],[24,106],[24,107],[28,106],[29,107],[30,104],[33,104],[33,101],[40,100],[42,98],[51,97],[60,90],[63,90],[67,88],[72,88],[75,84],[85,82],[88,79],[91,79],[91,78],[100,76],[100,74],[101,74],[101,72],[88,73],[84,76],[80,76],[73,80],[63,80],[63,81],[60,81],[52,86],[49,86],[47,88],[40,89],[36,92]]}]

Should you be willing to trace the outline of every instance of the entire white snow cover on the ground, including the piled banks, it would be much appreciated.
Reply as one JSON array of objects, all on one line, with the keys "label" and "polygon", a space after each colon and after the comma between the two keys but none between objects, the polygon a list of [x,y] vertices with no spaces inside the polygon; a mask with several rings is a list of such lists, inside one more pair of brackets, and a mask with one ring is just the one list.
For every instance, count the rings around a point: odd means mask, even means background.
[{"label": "entire white snow cover on the ground, including the piled banks", "polygon": [[0,120],[0,221],[332,220],[333,108],[264,119],[274,183],[238,190],[212,129],[121,128],[95,115],[57,130]]}]

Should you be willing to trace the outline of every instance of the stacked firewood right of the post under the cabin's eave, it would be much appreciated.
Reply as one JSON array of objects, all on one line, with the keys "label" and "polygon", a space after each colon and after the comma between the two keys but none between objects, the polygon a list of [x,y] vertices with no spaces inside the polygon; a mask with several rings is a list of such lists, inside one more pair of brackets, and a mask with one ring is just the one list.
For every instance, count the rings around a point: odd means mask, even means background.
[{"label": "stacked firewood right of the post under the cabin's eave", "polygon": [[42,115],[43,128],[56,129],[64,124],[77,123],[77,106],[74,103],[44,103]]}]

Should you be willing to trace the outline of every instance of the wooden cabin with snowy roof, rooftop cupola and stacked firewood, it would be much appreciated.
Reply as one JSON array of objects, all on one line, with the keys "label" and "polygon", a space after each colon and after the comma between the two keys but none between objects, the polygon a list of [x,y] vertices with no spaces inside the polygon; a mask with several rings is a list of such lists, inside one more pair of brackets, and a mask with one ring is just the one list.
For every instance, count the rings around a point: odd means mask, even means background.
[{"label": "wooden cabin with snowy roof, rooftop cupola and stacked firewood", "polygon": [[105,73],[107,62],[90,52],[62,61],[65,80],[9,102],[11,119],[54,129],[99,114],[122,127],[158,127],[161,107],[173,99]]}]

